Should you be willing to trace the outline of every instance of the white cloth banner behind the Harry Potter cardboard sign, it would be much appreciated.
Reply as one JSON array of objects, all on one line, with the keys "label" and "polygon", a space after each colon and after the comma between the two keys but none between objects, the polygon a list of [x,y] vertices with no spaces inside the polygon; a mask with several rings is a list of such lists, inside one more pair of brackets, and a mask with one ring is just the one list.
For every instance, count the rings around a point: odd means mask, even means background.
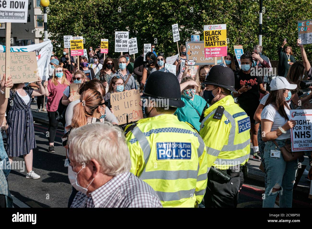
[{"label": "white cloth banner behind the Harry Potter cardboard sign", "polygon": [[[36,45],[11,46],[11,52],[36,52],[38,73],[42,80],[49,78],[49,65],[53,45],[51,41],[42,42]],[[0,45],[0,52],[5,52],[5,46]]]}]

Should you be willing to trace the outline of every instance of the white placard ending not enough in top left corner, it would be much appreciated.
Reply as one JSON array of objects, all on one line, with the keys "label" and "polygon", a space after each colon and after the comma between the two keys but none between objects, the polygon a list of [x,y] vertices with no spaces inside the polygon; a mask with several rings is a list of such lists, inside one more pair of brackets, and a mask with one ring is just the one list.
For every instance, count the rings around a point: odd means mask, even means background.
[{"label": "white placard ending not enough in top left corner", "polygon": [[0,1],[0,21],[27,23],[27,10],[28,0]]}]

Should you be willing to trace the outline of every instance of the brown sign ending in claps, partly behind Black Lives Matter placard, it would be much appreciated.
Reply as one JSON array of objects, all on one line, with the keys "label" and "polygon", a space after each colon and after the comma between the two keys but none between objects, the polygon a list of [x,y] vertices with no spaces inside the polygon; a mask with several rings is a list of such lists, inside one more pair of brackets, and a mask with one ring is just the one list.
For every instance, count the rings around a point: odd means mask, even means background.
[{"label": "brown sign ending in claps, partly behind Black Lives Matter placard", "polygon": [[194,65],[215,64],[215,57],[205,57],[204,41],[188,41],[185,44],[186,59],[195,61]]}]

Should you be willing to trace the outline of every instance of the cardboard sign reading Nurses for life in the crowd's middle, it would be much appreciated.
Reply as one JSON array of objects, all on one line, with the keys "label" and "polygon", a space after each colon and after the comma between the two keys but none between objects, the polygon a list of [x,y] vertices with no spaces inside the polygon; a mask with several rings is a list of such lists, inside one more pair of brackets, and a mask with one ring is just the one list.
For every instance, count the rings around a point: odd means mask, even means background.
[{"label": "cardboard sign reading Nurses for life in the crowd's middle", "polygon": [[127,123],[127,114],[128,122],[138,121],[143,118],[140,101],[140,92],[136,89],[110,94],[110,104],[119,125]]}]

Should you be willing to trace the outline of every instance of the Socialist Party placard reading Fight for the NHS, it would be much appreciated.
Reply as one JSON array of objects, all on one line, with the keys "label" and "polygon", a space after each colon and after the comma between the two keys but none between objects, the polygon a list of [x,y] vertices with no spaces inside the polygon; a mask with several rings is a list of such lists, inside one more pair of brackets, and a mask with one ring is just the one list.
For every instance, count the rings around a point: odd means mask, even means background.
[{"label": "Socialist Party placard reading Fight for the NHS", "polygon": [[296,126],[290,130],[291,151],[312,150],[312,110],[290,110]]}]

